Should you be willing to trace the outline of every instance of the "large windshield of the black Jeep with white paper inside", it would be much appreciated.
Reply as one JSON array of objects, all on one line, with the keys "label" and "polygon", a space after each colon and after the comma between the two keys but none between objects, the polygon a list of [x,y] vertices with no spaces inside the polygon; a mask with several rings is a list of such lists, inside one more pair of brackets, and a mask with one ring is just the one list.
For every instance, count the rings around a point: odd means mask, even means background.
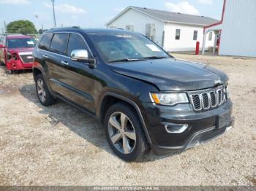
[{"label": "large windshield of the black Jeep with white paper inside", "polygon": [[170,58],[170,55],[141,34],[89,33],[89,38],[108,62]]}]

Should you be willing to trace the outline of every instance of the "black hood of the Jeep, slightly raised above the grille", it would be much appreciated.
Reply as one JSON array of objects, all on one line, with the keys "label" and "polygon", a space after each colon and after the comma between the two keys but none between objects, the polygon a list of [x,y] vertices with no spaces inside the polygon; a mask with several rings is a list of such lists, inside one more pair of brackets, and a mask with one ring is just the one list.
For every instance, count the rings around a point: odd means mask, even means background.
[{"label": "black hood of the Jeep, slightly raised above the grille", "polygon": [[201,63],[164,58],[111,64],[118,74],[154,84],[159,90],[200,90],[227,82],[227,75]]}]

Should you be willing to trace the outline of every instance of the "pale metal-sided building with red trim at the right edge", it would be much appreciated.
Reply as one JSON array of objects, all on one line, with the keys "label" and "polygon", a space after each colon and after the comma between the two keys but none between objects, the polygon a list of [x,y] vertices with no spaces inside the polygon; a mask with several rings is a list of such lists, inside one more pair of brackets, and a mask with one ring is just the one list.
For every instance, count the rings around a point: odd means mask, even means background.
[{"label": "pale metal-sided building with red trim at the right edge", "polygon": [[222,20],[206,26],[205,36],[209,31],[220,36],[219,55],[256,57],[256,0],[224,0]]}]

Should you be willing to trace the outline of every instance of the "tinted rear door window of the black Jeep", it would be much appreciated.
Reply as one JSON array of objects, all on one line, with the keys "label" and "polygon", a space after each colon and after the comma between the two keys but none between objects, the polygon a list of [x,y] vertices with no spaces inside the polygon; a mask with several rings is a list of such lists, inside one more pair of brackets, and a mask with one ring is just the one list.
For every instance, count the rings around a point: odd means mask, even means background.
[{"label": "tinted rear door window of the black Jeep", "polygon": [[66,55],[68,34],[54,34],[50,43],[50,52]]}]

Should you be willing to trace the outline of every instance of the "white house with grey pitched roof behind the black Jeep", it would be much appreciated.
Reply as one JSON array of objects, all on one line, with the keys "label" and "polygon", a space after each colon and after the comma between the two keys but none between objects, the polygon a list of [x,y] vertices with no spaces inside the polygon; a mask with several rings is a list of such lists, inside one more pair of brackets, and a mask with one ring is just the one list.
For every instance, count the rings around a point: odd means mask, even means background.
[{"label": "white house with grey pitched roof behind the black Jeep", "polygon": [[[210,17],[127,7],[106,26],[140,32],[167,51],[189,51],[195,50],[197,41],[202,47],[203,27],[217,22],[218,20]],[[214,46],[214,37],[214,33],[207,34],[206,48]]]}]

